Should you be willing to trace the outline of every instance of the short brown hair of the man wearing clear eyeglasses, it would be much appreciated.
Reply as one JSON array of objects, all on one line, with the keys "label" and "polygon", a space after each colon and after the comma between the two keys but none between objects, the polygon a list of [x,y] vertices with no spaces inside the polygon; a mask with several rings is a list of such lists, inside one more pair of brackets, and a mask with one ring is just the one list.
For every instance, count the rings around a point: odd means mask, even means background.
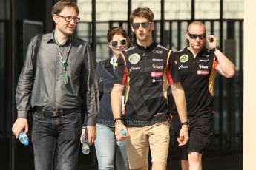
[{"label": "short brown hair of the man wearing clear eyeglasses", "polygon": [[77,6],[76,2],[71,0],[60,0],[53,6],[53,10],[51,14],[59,14],[65,7],[73,7],[76,10],[77,15],[79,14],[79,7]]}]

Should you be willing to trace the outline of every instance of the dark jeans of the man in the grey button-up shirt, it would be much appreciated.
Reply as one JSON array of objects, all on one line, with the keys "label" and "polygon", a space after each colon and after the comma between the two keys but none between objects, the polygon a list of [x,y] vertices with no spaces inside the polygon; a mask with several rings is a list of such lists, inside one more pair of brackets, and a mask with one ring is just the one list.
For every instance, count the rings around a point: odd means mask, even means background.
[{"label": "dark jeans of the man in the grey button-up shirt", "polygon": [[35,112],[32,143],[36,170],[75,170],[79,155],[81,113],[46,118]]}]

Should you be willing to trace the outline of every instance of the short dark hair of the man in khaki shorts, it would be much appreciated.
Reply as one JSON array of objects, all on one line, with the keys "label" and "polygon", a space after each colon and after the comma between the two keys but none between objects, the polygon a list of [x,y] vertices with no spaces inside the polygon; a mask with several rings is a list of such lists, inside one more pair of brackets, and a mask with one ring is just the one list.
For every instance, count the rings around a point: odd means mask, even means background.
[{"label": "short dark hair of the man in khaki shorts", "polygon": [[134,23],[134,18],[135,17],[143,17],[147,18],[148,21],[153,22],[154,20],[154,13],[149,7],[137,7],[131,12],[130,15],[130,22],[131,24]]}]

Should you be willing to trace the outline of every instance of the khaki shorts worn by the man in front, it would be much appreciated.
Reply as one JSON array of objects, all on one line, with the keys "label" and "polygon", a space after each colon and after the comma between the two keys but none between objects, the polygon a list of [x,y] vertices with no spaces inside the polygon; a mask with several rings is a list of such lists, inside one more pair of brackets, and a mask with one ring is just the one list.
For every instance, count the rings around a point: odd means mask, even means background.
[{"label": "khaki shorts worn by the man in front", "polygon": [[152,126],[128,127],[130,137],[127,152],[130,169],[148,165],[149,146],[152,162],[166,164],[170,140],[169,127],[167,121]]}]

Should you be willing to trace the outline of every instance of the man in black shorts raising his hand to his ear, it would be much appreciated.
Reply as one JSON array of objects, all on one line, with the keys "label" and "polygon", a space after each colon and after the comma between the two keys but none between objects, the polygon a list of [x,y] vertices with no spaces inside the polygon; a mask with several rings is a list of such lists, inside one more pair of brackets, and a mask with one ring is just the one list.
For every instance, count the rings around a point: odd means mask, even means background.
[{"label": "man in black shorts raising his hand to his ear", "polygon": [[[213,135],[211,122],[214,78],[217,72],[226,78],[234,76],[234,64],[220,52],[214,35],[208,35],[206,38],[206,28],[201,21],[193,21],[188,25],[186,37],[189,46],[173,55],[174,63],[179,68],[181,85],[185,90],[190,124],[188,144],[177,147],[181,154],[183,170],[188,168],[200,170],[202,154]],[[204,47],[206,41],[211,50]],[[177,135],[180,130],[180,120],[177,118],[175,105],[172,116]]]}]

